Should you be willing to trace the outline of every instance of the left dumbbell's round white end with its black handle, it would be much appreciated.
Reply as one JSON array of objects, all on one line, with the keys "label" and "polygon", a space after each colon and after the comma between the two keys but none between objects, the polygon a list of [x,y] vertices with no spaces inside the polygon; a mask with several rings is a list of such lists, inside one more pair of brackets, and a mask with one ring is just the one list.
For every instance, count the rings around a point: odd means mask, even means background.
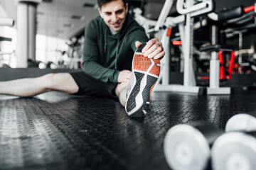
[{"label": "left dumbbell's round white end with its black handle", "polygon": [[164,138],[164,155],[172,169],[206,169],[210,147],[223,134],[205,122],[175,125]]}]

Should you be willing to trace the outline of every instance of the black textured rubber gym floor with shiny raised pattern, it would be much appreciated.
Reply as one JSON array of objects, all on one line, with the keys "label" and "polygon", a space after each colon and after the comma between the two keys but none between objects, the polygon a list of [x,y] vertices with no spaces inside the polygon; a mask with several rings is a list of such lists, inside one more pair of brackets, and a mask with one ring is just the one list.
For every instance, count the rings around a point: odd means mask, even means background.
[{"label": "black textured rubber gym floor with shiny raised pattern", "polygon": [[0,95],[0,169],[170,169],[167,130],[256,111],[256,91],[230,96],[154,92],[146,118],[132,119],[112,98],[48,92],[35,98]]}]

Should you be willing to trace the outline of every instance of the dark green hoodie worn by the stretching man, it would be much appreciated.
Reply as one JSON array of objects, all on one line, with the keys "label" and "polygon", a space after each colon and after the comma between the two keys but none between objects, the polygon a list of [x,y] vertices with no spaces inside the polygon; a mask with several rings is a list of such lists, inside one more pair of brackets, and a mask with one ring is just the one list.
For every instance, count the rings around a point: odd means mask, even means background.
[{"label": "dark green hoodie worn by the stretching man", "polygon": [[120,71],[132,69],[137,40],[147,42],[149,38],[129,13],[122,30],[115,35],[102,18],[95,18],[85,29],[82,69],[95,79],[117,83]]}]

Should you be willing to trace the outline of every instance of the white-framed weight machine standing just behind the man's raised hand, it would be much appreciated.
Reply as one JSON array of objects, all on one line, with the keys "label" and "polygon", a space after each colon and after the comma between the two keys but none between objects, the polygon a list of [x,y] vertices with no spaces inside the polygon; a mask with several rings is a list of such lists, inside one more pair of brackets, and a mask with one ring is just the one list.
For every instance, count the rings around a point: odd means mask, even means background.
[{"label": "white-framed weight machine standing just behind the man's raised hand", "polygon": [[[200,87],[196,86],[196,78],[193,72],[193,17],[200,16],[205,13],[213,11],[213,1],[202,0],[202,1],[186,1],[178,0],[176,3],[176,9],[180,16],[167,17],[171,6],[174,1],[165,1],[164,7],[160,13],[159,19],[154,26],[154,32],[161,34],[161,42],[163,43],[164,49],[169,49],[169,40],[171,35],[171,28],[178,26],[179,33],[181,35],[182,43],[182,54],[184,57],[184,78],[183,86],[170,85],[169,84],[169,50],[166,50],[165,57],[161,60],[161,74],[159,81],[157,81],[154,91],[181,91],[198,93]],[[183,8],[183,5],[186,8]],[[138,16],[138,17],[136,17]],[[135,18],[138,18],[139,23],[147,23],[146,19],[139,17],[139,13],[135,13]],[[152,22],[151,22],[152,24]],[[146,25],[149,27],[148,25]],[[161,30],[166,27],[167,29]],[[148,29],[150,32],[150,30]],[[161,82],[161,83],[160,83]]]}]

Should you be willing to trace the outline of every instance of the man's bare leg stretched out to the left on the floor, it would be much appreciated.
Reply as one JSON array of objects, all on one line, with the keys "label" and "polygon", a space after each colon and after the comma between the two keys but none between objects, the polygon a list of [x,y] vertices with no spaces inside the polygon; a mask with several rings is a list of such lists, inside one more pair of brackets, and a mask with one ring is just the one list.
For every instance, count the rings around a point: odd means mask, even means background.
[{"label": "man's bare leg stretched out to the left on the floor", "polygon": [[78,85],[69,73],[46,74],[42,77],[16,79],[0,82],[0,94],[35,96],[46,91],[78,92]]}]

